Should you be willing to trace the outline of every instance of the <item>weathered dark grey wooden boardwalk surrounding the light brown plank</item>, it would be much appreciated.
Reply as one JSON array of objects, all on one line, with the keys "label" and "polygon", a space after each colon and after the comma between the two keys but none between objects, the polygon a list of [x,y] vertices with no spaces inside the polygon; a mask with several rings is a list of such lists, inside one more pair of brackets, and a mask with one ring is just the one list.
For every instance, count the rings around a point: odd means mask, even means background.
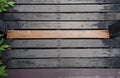
[{"label": "weathered dark grey wooden boardwalk surrounding the light brown plank", "polygon": [[[16,6],[2,18],[8,24],[8,29],[16,32],[32,30],[40,34],[40,31],[51,30],[105,31],[120,20],[119,0],[14,1]],[[9,68],[8,78],[119,78],[120,76],[119,40],[109,39],[108,36],[73,38],[75,34],[65,39],[66,36],[57,35],[52,39],[33,38],[34,35],[27,38],[24,35],[27,32],[22,34],[22,38],[6,40],[11,46],[11,50],[5,54]],[[48,34],[49,32],[43,36]],[[17,33],[13,36],[18,37]]]}]

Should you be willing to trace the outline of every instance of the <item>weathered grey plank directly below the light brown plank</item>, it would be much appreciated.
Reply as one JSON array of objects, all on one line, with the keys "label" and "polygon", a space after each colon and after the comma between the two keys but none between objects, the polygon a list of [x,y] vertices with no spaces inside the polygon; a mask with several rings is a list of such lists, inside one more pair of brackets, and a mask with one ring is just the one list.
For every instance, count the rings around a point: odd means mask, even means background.
[{"label": "weathered grey plank directly below the light brown plank", "polygon": [[11,48],[95,48],[120,47],[119,40],[112,39],[54,39],[54,40],[7,40]]}]

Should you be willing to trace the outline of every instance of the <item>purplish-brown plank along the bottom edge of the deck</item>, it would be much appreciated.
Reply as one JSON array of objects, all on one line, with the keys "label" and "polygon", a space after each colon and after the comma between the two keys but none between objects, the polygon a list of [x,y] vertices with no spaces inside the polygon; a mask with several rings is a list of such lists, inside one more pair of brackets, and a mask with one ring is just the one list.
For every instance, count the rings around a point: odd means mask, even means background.
[{"label": "purplish-brown plank along the bottom edge of the deck", "polygon": [[7,78],[117,78],[120,69],[8,69]]}]

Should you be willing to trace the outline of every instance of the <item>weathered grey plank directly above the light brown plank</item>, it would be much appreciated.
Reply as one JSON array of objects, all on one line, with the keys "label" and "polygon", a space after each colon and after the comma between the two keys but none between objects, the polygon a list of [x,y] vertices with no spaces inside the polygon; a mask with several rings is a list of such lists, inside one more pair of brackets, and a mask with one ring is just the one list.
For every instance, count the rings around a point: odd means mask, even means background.
[{"label": "weathered grey plank directly above the light brown plank", "polygon": [[7,21],[8,29],[108,29],[113,21],[106,22],[49,22],[49,21]]}]

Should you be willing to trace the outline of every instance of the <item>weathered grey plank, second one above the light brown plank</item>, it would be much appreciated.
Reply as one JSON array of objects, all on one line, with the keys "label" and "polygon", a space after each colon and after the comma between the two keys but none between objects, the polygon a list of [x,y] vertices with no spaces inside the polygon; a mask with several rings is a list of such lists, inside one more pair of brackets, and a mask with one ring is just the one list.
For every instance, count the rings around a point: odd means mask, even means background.
[{"label": "weathered grey plank, second one above the light brown plank", "polygon": [[19,20],[119,20],[120,13],[6,13],[2,17],[6,21],[19,21]]}]

